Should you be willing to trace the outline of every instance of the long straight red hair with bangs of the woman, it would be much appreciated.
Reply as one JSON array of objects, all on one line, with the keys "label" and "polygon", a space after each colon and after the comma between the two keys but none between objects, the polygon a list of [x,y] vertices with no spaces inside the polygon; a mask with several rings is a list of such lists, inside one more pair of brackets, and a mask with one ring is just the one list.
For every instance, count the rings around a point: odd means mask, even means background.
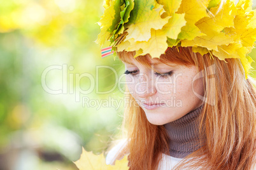
[{"label": "long straight red hair with bangs of the woman", "polygon": [[[124,62],[129,62],[134,55],[135,52],[118,52]],[[149,65],[148,57],[138,56],[135,60]],[[201,56],[189,47],[169,48],[159,60],[196,65],[205,75],[206,101],[199,125],[203,147],[186,157],[192,159],[183,159],[174,169],[252,168],[256,162],[256,91],[253,79],[250,76],[245,79],[240,60],[228,58],[223,61],[209,53]],[[136,102],[128,96],[131,102]],[[125,108],[124,126],[129,138],[130,169],[157,169],[162,153],[168,154],[164,126],[150,124],[136,103]]]}]

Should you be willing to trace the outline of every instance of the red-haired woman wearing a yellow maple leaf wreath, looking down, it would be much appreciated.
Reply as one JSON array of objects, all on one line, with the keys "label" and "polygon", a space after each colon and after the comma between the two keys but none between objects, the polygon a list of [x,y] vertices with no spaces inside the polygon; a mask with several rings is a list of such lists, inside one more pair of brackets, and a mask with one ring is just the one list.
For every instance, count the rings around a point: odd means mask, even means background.
[{"label": "red-haired woman wearing a yellow maple leaf wreath, looking down", "polygon": [[105,1],[97,42],[113,42],[132,103],[109,163],[129,154],[131,169],[253,169],[251,3]]}]

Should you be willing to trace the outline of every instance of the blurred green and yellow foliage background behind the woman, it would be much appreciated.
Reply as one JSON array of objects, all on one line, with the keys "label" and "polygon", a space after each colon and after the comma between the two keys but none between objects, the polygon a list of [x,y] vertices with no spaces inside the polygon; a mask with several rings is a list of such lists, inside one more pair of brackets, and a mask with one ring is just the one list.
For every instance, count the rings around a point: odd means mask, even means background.
[{"label": "blurred green and yellow foliage background behind the woman", "polygon": [[[102,3],[1,0],[0,170],[77,169],[82,146],[101,153],[118,133],[116,74],[96,68],[108,65],[119,77],[124,66],[101,59],[94,43]],[[256,50],[251,56],[256,61]]]}]

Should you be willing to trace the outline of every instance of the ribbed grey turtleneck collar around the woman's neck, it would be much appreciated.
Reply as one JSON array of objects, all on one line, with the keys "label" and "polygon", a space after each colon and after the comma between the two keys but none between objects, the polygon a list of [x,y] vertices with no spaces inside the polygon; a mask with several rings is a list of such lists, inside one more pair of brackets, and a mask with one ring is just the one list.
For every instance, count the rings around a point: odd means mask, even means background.
[{"label": "ribbed grey turtleneck collar around the woman's neck", "polygon": [[164,124],[169,140],[169,153],[172,157],[184,158],[200,147],[197,118],[202,108],[203,105],[176,121]]}]

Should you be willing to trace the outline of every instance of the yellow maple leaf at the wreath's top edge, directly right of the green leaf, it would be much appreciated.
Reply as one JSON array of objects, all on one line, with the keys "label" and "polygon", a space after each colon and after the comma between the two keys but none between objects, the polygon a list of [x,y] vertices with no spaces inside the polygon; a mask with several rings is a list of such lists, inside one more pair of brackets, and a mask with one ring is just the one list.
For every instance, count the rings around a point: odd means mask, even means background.
[{"label": "yellow maple leaf at the wreath's top edge, directly right of the green leaf", "polygon": [[148,41],[151,29],[162,29],[169,20],[169,16],[161,18],[164,13],[162,5],[155,0],[135,1],[134,10],[131,11],[131,18],[127,29],[126,39],[136,39],[136,41]]}]

